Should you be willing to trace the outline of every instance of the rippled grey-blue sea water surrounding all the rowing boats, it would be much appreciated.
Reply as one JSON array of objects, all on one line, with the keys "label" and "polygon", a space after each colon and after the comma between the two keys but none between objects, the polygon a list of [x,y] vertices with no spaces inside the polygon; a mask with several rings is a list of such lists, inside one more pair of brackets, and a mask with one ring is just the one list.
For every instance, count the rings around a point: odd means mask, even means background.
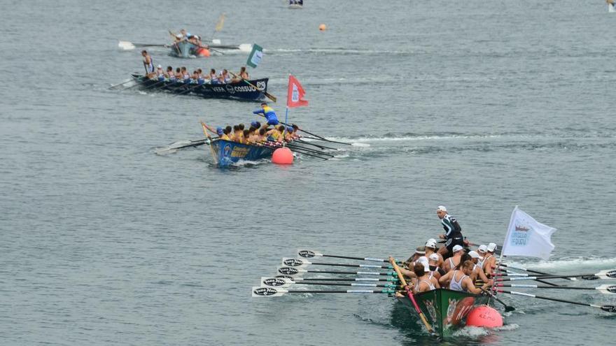
[{"label": "rippled grey-blue sea water surrounding all the rowing boats", "polygon": [[[616,265],[616,17],[602,1],[2,8],[1,345],[432,345],[385,296],[253,299],[250,288],[297,247],[407,257],[440,233],[440,204],[477,243],[502,243],[516,205],[559,229],[551,261],[527,266]],[[207,37],[223,12],[223,43],[265,48],[251,74],[270,78],[279,114],[293,73],[310,105],[290,121],[359,145],[329,161],[231,170],[211,164],[207,147],[160,152],[202,138],[199,120],[250,122],[258,105],[109,90],[142,69],[118,40],[167,43],[182,27]],[[188,69],[235,71],[246,59],[151,53]],[[605,312],[503,299],[517,308],[503,329],[463,329],[447,343],[613,340]]]}]

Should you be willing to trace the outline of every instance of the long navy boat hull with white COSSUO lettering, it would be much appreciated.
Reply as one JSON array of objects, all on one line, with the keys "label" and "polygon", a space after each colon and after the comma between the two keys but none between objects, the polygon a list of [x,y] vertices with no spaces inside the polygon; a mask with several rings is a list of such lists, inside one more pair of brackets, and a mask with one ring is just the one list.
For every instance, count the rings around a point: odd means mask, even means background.
[{"label": "long navy boat hull with white COSSUO lettering", "polygon": [[[264,99],[269,80],[269,78],[249,80],[248,82],[251,85],[244,81],[225,84],[199,84],[196,82],[151,79],[138,73],[132,73],[132,77],[139,82],[139,87],[144,90],[160,90],[174,94],[202,96],[207,99],[240,99],[248,101]],[[255,87],[258,87],[258,89],[255,89]]]}]

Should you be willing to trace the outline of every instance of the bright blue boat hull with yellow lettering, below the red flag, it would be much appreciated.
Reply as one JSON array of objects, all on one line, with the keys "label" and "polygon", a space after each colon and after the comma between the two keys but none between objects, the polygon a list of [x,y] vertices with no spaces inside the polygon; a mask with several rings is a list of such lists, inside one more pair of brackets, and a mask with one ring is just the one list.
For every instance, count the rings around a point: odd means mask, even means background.
[{"label": "bright blue boat hull with yellow lettering, below the red flag", "polygon": [[276,149],[263,145],[241,144],[220,138],[212,140],[210,145],[214,161],[220,167],[228,167],[236,164],[239,160],[257,161],[268,159],[272,157]]}]

